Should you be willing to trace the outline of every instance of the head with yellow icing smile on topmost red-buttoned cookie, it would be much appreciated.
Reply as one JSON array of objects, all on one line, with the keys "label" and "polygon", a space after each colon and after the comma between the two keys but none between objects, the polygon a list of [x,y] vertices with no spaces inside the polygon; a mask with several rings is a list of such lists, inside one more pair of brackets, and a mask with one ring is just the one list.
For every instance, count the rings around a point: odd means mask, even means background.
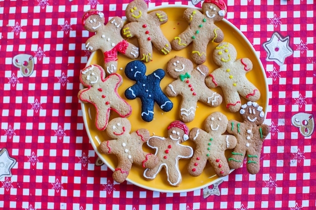
[{"label": "head with yellow icing smile on topmost red-buttoned cookie", "polygon": [[135,0],[126,7],[125,15],[129,22],[144,20],[147,15],[148,6],[143,0]]}]

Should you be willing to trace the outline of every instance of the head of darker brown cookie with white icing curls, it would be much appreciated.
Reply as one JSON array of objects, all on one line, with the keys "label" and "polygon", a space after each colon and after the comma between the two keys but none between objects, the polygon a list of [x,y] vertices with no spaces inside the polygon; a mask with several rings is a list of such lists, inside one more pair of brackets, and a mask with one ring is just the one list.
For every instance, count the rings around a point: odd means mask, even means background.
[{"label": "head of darker brown cookie with white icing curls", "polygon": [[245,121],[255,123],[256,125],[260,125],[265,121],[265,112],[256,102],[248,101],[241,106],[239,113]]}]

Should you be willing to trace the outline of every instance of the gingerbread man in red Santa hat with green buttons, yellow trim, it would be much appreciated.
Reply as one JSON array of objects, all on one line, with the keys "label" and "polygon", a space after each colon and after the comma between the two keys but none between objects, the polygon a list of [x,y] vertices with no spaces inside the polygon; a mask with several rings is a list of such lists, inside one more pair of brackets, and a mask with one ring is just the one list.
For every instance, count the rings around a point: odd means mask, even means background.
[{"label": "gingerbread man in red Santa hat with green buttons, yellow trim", "polygon": [[226,5],[222,0],[205,0],[202,13],[194,8],[184,11],[183,18],[189,23],[188,28],[171,41],[175,50],[181,50],[192,42],[192,60],[201,64],[206,60],[208,42],[222,42],[223,31],[214,23],[221,21],[226,14]]}]

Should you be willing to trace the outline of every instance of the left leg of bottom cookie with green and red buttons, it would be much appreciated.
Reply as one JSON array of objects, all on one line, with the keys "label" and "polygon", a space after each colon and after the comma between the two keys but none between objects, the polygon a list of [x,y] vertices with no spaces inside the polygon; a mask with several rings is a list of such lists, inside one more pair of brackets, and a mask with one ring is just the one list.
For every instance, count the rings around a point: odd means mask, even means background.
[{"label": "left leg of bottom cookie with green and red buttons", "polygon": [[[197,151],[197,150],[196,150]],[[207,157],[203,153],[194,153],[188,166],[188,172],[192,176],[199,176],[202,174],[207,162]]]}]

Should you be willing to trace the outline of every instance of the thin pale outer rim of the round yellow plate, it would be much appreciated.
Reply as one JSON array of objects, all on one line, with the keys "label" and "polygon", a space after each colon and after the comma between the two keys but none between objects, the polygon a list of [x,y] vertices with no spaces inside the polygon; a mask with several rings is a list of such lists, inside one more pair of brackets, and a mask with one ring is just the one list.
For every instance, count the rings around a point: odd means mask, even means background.
[{"label": "thin pale outer rim of the round yellow plate", "polygon": [[[189,5],[161,5],[161,6],[156,6],[156,7],[150,7],[148,8],[148,12],[152,12],[152,11],[155,11],[155,10],[160,10],[160,9],[169,9],[169,8],[180,8],[180,9],[188,9],[188,8],[193,8],[193,9],[196,9],[196,10],[199,10],[201,11],[201,8],[198,8],[198,7],[194,7],[194,6],[189,6]],[[126,17],[123,18],[123,21],[126,21]],[[266,117],[267,117],[267,110],[268,110],[268,106],[269,106],[269,85],[268,85],[268,79],[267,79],[267,75],[266,75],[266,72],[265,72],[265,68],[260,60],[260,57],[257,55],[257,52],[255,51],[253,45],[250,43],[250,41],[248,40],[248,38],[233,24],[231,23],[230,21],[228,21],[227,19],[223,18],[223,20],[225,22],[225,24],[228,24],[230,27],[232,27],[248,44],[248,46],[250,47],[251,51],[254,53],[256,59],[258,60],[258,63],[259,63],[259,66],[260,66],[260,71],[262,72],[262,74],[264,75],[264,81],[265,81],[265,87],[266,87],[266,90],[267,90],[267,101],[266,101],[266,110],[265,110],[265,120],[266,120]],[[86,62],[86,65],[85,67],[87,67],[88,65],[91,65],[91,60],[93,59],[93,56],[94,54],[96,53],[96,51],[92,52]],[[83,88],[83,85],[80,84],[80,89]],[[83,118],[83,122],[84,122],[84,125],[85,125],[85,129],[86,129],[86,133],[88,135],[88,138],[89,138],[89,142],[90,142],[90,145],[92,146],[94,152],[96,153],[96,155],[98,156],[98,158],[100,158],[100,160],[105,164],[107,165],[108,168],[110,168],[112,171],[115,170],[115,168],[113,168],[111,165],[107,164],[107,161],[102,157],[102,154],[99,153],[96,145],[92,142],[92,136],[91,136],[91,133],[88,129],[88,122],[87,122],[87,116],[86,116],[86,112],[84,111],[85,110],[85,103],[83,103],[82,101],[79,100],[79,102],[81,103],[81,111],[82,111],[82,118]],[[98,141],[98,139],[96,139]],[[182,190],[177,190],[177,188],[175,187],[174,190],[164,190],[164,189],[156,189],[156,188],[152,188],[152,187],[149,187],[149,186],[146,186],[146,185],[142,185],[142,184],[139,184],[138,182],[135,182],[133,180],[130,180],[129,177],[126,178],[126,181],[127,182],[130,182],[131,184],[134,184],[138,187],[141,187],[143,189],[147,189],[147,190],[150,190],[150,191],[157,191],[157,192],[164,192],[164,193],[181,193],[181,192],[191,192],[191,191],[194,191],[194,190],[198,190],[198,189],[202,189],[202,188],[205,188],[205,187],[208,187],[224,178],[227,178],[235,169],[231,169],[229,174],[225,177],[218,177],[217,179],[213,180],[213,181],[210,181],[210,182],[207,182],[201,186],[197,186],[197,187],[193,187],[193,188],[190,188],[190,189],[182,189]],[[115,181],[114,181],[115,182]],[[119,184],[119,183],[118,183]]]}]

